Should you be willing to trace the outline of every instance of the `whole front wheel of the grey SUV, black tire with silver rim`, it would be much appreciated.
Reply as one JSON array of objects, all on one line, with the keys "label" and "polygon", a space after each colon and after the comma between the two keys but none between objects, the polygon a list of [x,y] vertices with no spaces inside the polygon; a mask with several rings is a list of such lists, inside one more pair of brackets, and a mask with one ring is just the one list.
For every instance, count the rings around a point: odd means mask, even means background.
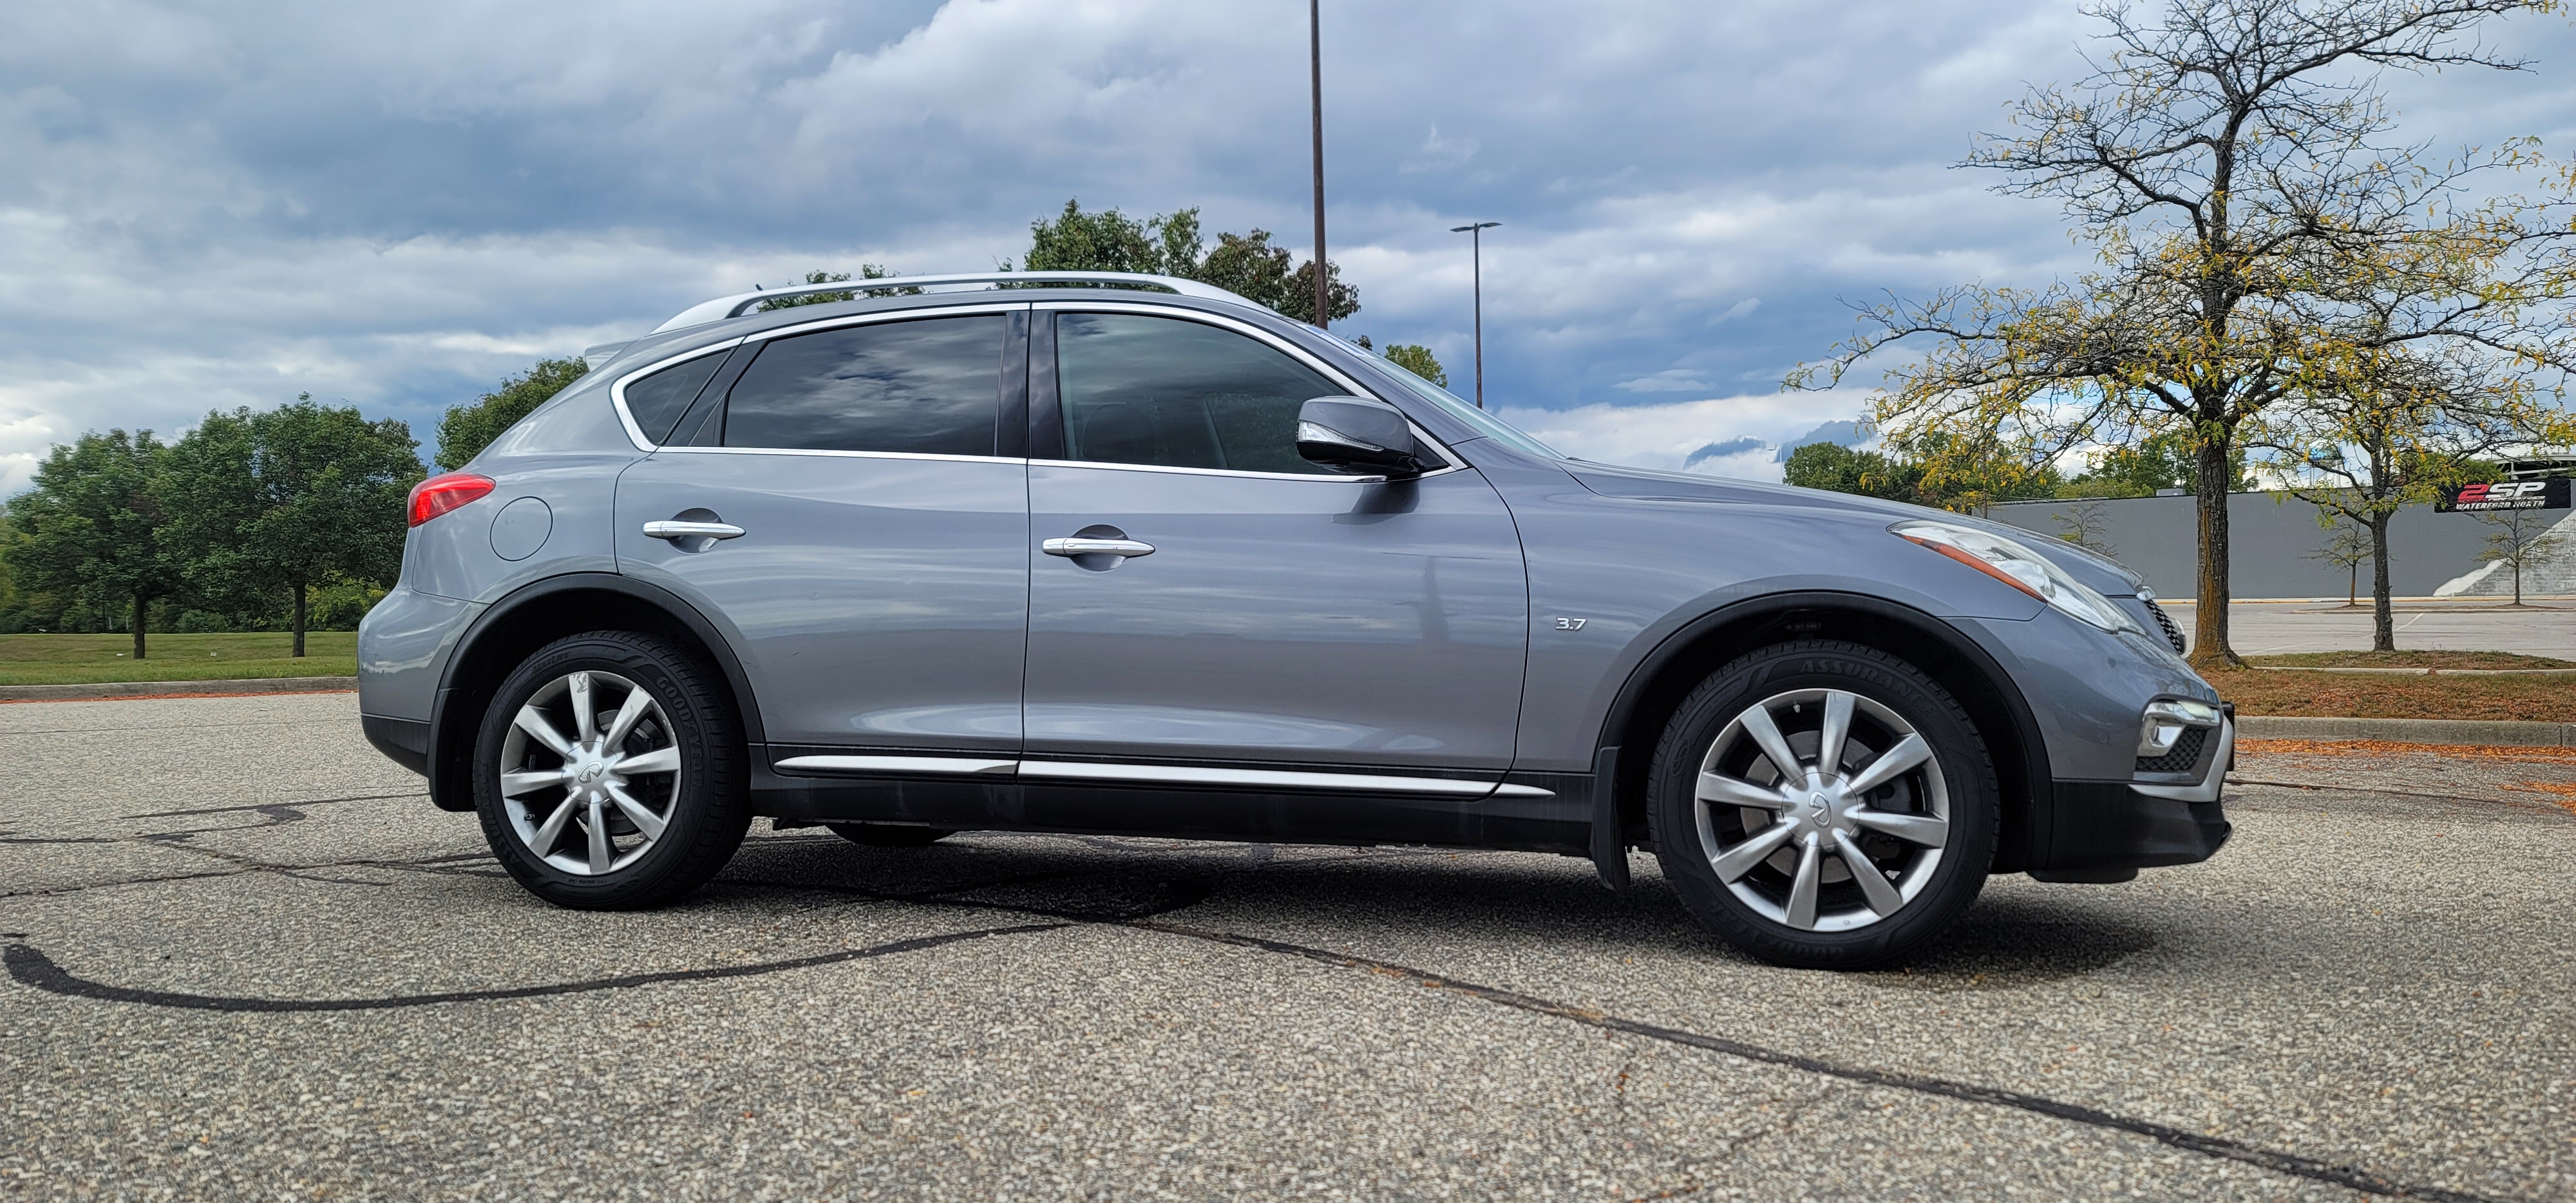
[{"label": "whole front wheel of the grey SUV, black tire with silver rim", "polygon": [[[1821,773],[1837,716],[1842,755]],[[1765,752],[1772,739],[1795,773]],[[1646,791],[1682,904],[1777,966],[1904,961],[1994,866],[1999,788],[1976,724],[1922,670],[1862,644],[1777,644],[1710,672],[1664,724]]]}]

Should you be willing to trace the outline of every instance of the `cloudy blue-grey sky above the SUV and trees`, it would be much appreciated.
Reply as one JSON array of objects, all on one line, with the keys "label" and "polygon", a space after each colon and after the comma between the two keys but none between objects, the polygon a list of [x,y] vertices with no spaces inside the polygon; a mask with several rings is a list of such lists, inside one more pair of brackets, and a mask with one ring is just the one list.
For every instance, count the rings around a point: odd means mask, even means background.
[{"label": "cloudy blue-grey sky above the SUV and trees", "polygon": [[[1342,325],[1566,451],[1777,474],[1860,410],[1777,392],[1844,301],[2081,270],[1950,165],[2081,72],[2066,0],[1324,0]],[[2437,144],[2576,149],[2527,75],[2398,80]],[[806,268],[979,270],[1066,198],[1306,247],[1296,0],[734,0],[0,10],[0,495],[90,428],[312,392],[412,422],[538,355]],[[1716,453],[1705,453],[1716,446]]]}]

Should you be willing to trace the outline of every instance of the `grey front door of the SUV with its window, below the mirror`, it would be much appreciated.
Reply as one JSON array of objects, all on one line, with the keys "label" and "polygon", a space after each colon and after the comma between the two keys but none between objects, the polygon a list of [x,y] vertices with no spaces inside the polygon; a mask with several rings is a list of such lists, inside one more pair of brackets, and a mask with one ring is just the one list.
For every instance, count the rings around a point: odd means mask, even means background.
[{"label": "grey front door of the SUV with its window, below the mirror", "polygon": [[1033,319],[1023,781],[1229,781],[1066,765],[1084,757],[1510,768],[1528,582],[1484,477],[1298,459],[1298,404],[1358,386],[1255,325],[1110,304]]}]

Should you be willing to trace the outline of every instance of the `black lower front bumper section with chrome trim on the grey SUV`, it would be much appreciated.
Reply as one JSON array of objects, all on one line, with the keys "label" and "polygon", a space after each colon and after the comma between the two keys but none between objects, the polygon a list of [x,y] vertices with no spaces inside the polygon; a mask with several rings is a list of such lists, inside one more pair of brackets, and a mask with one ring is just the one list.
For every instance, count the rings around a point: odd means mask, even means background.
[{"label": "black lower front bumper section with chrome trim on the grey SUV", "polygon": [[2233,832],[2218,801],[2233,760],[2236,721],[2228,719],[2200,781],[2058,781],[2043,829],[2032,832],[2030,876],[2128,881],[2141,868],[2218,855]]}]

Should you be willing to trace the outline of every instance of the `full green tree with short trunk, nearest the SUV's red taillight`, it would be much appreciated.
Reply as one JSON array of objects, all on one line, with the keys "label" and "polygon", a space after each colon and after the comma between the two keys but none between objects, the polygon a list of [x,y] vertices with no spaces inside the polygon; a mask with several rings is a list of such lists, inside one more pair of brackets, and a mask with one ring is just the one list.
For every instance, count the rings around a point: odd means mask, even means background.
[{"label": "full green tree with short trunk, nearest the SUV's red taillight", "polygon": [[209,598],[283,595],[304,654],[314,585],[389,582],[402,572],[402,500],[420,443],[394,417],[294,404],[209,412],[170,451],[173,536]]}]

